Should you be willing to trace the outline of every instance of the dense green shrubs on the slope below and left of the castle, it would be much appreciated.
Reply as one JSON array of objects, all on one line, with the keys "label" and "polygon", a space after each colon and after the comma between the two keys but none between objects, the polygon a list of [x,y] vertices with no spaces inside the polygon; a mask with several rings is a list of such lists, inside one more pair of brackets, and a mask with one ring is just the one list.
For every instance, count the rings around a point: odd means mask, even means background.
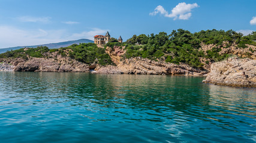
[{"label": "dense green shrubs on the slope below and left of the castle", "polygon": [[22,48],[14,51],[7,51],[0,54],[0,58],[49,58],[46,52],[58,52],[62,57],[69,56],[73,59],[81,61],[86,64],[113,64],[105,49],[98,48],[95,43],[81,43],[80,45],[73,44],[71,46],[59,49],[49,49],[47,46],[38,46],[37,48]]}]

